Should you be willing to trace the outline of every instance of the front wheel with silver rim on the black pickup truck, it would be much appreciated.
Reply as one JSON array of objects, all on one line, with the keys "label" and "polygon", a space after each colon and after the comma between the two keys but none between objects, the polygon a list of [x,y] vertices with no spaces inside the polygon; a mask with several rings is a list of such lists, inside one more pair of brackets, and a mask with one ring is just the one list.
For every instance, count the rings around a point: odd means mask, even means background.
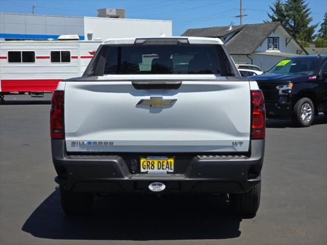
[{"label": "front wheel with silver rim on the black pickup truck", "polygon": [[303,97],[294,106],[292,122],[299,127],[309,127],[312,124],[314,114],[315,108],[312,101],[307,97]]}]

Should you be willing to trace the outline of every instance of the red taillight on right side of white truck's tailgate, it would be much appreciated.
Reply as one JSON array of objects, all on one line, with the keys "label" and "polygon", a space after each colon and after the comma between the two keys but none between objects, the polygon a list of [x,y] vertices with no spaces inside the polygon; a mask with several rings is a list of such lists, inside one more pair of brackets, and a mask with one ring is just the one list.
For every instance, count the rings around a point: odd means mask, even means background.
[{"label": "red taillight on right side of white truck's tailgate", "polygon": [[261,90],[251,91],[252,124],[251,138],[264,139],[266,131],[266,109],[264,95]]}]

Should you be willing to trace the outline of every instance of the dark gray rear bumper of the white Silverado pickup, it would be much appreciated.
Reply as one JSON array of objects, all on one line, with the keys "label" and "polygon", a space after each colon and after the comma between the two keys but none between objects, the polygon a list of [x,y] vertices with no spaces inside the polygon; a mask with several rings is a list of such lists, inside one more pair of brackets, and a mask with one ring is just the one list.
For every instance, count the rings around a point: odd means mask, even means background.
[{"label": "dark gray rear bumper of the white Silverado pickup", "polygon": [[[251,140],[250,156],[194,156],[182,174],[131,174],[119,155],[68,156],[64,140],[52,140],[56,182],[68,191],[83,193],[158,193],[149,190],[162,182],[164,193],[242,193],[261,181],[264,140]],[[175,164],[178,164],[177,162]]]}]

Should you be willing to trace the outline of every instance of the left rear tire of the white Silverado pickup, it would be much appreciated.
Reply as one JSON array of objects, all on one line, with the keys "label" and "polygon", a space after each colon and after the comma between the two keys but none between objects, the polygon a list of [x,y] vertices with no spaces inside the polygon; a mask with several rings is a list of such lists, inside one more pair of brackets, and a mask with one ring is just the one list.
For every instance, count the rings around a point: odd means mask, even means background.
[{"label": "left rear tire of the white Silverado pickup", "polygon": [[74,193],[60,187],[61,207],[68,215],[88,213],[93,205],[94,195]]}]

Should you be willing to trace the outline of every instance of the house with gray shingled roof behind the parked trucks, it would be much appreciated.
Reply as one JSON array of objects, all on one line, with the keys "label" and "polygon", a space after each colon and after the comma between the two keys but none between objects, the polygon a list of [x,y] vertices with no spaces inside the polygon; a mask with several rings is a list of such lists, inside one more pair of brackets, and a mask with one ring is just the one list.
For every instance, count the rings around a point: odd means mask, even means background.
[{"label": "house with gray shingled roof behind the parked trucks", "polygon": [[235,63],[269,70],[280,60],[308,52],[280,22],[188,29],[182,36],[218,37]]}]

